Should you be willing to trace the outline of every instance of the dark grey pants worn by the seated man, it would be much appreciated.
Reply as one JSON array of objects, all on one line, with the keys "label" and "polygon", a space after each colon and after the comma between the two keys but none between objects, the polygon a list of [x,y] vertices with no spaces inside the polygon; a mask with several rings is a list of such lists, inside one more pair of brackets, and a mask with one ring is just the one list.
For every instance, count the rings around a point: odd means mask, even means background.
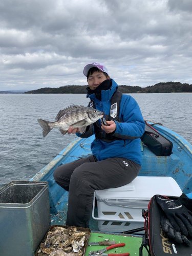
[{"label": "dark grey pants worn by the seated man", "polygon": [[125,158],[81,158],[56,168],[54,179],[69,191],[66,225],[89,227],[95,190],[120,187],[134,180],[141,166]]}]

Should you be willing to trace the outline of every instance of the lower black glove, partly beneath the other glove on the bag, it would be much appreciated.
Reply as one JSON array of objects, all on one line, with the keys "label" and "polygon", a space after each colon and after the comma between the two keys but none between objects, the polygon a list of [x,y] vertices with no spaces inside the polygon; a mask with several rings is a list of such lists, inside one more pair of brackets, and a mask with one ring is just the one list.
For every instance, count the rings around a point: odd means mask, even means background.
[{"label": "lower black glove, partly beneath the other glove on the bag", "polygon": [[168,238],[179,244],[184,244],[187,246],[190,245],[190,241],[187,239],[187,237],[181,234],[181,232],[176,231],[164,214],[161,215],[161,227]]}]

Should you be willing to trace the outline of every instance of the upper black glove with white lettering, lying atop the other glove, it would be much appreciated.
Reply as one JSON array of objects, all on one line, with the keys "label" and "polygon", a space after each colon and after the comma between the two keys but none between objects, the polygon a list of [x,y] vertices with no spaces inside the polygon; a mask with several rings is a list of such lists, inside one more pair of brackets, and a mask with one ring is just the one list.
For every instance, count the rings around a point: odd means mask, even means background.
[{"label": "upper black glove with white lettering, lying atop the other glove", "polygon": [[192,212],[178,200],[169,200],[159,195],[155,198],[173,228],[186,237],[192,237]]}]

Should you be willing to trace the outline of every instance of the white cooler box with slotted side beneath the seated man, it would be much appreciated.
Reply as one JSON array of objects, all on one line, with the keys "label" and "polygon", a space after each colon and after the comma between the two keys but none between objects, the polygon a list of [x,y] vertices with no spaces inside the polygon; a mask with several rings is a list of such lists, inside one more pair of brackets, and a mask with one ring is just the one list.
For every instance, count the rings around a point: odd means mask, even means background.
[{"label": "white cooler box with slotted side beneath the seated man", "polygon": [[[150,199],[158,194],[179,197],[182,190],[171,177],[138,176],[125,186],[96,190],[92,217],[98,220],[100,231],[123,232],[142,228],[142,209],[146,210]],[[94,216],[95,198],[98,217]]]}]

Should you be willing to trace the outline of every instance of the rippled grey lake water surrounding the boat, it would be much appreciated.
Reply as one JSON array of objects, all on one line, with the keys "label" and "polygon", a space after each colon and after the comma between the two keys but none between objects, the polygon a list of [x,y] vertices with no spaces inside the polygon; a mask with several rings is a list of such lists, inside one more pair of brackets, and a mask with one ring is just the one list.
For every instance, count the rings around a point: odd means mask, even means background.
[{"label": "rippled grey lake water surrounding the boat", "polygon": [[[192,94],[131,94],[143,117],[162,123],[192,143]],[[87,106],[86,94],[0,94],[0,185],[29,180],[76,138],[53,129],[45,138],[37,118],[54,121],[71,104]]]}]

